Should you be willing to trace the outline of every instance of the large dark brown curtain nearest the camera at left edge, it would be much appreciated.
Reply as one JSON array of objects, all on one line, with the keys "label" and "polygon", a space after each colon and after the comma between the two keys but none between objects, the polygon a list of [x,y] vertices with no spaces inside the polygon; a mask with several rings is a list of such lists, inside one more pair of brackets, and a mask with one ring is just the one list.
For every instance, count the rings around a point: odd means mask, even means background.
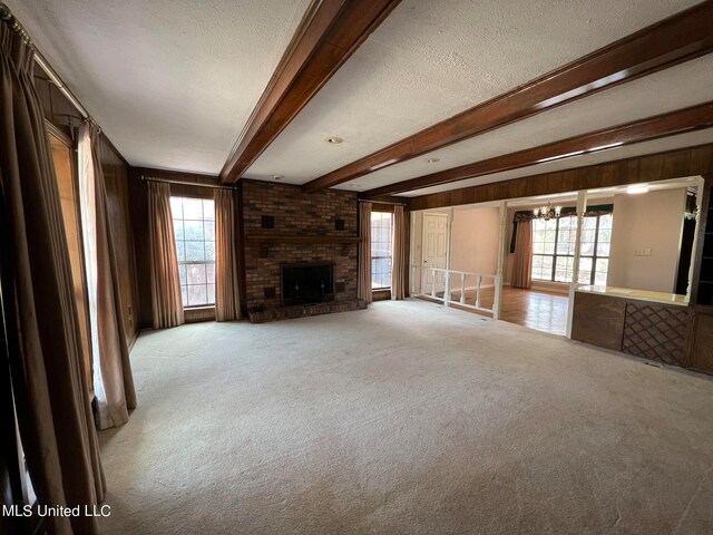
[{"label": "large dark brown curtain nearest the camera at left edge", "polygon": [[[11,19],[8,13],[0,16]],[[33,52],[0,21],[2,305],[20,436],[41,504],[95,505],[105,480],[82,371],[77,303]],[[91,516],[46,518],[56,534],[94,534]]]}]

